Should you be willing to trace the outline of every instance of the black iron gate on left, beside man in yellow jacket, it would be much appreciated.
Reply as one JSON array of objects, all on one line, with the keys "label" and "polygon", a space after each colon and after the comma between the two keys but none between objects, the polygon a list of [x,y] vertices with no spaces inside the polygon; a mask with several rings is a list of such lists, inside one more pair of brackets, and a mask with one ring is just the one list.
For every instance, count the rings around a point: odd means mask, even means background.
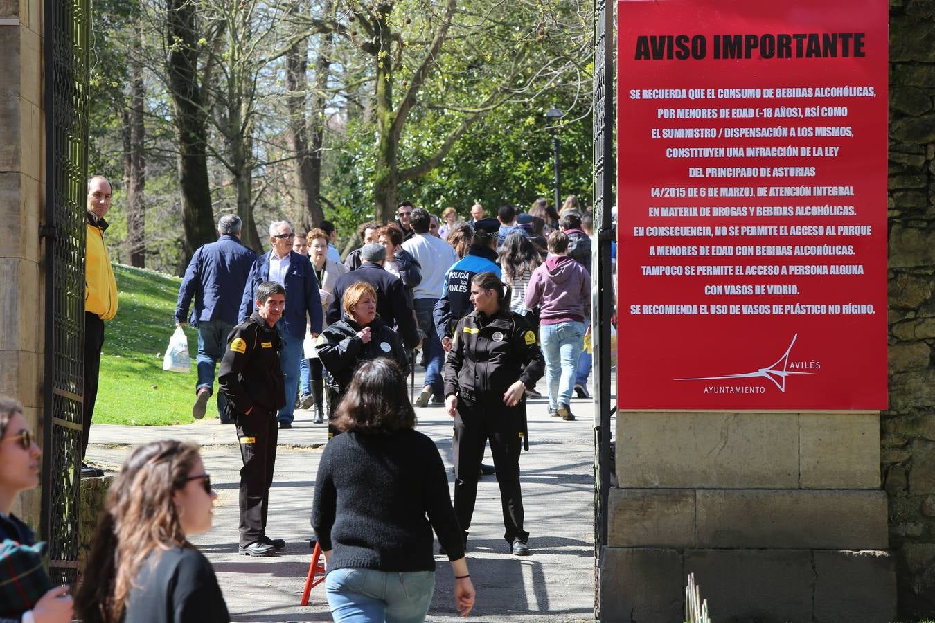
[{"label": "black iron gate on left, beside man in yellow jacket", "polygon": [[53,583],[77,580],[84,370],[90,0],[45,2],[45,417],[42,538]]}]

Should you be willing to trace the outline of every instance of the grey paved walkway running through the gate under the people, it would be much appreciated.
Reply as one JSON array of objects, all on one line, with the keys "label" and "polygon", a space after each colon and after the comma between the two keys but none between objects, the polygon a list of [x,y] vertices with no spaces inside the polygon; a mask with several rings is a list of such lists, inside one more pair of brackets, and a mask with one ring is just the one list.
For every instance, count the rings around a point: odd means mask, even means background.
[{"label": "grey paved walkway running through the gate under the people", "polygon": [[[539,384],[541,387],[541,383]],[[417,383],[417,387],[421,387]],[[468,563],[477,589],[475,621],[589,621],[594,617],[594,477],[590,401],[575,400],[578,418],[550,418],[543,400],[529,402],[529,452],[523,472],[525,529],[532,556],[507,553],[499,489],[484,476],[478,489]],[[190,405],[180,405],[188,410]],[[416,409],[418,430],[435,440],[451,467],[452,420],[441,406]],[[170,427],[93,426],[88,460],[116,469],[130,446],[176,438],[203,446],[202,457],[218,490],[214,528],[193,539],[218,573],[224,599],[236,621],[328,621],[324,585],[299,605],[309,569],[309,525],[318,460],[326,438],[323,424],[296,411],[291,431],[280,432],[276,482],[270,491],[268,531],[286,540],[279,556],[254,559],[237,554],[237,487],[241,466],[232,426],[217,419]],[[487,450],[485,462],[490,460]],[[449,480],[453,476],[449,472]],[[438,574],[429,621],[454,621],[453,577],[447,559],[436,557]]]}]

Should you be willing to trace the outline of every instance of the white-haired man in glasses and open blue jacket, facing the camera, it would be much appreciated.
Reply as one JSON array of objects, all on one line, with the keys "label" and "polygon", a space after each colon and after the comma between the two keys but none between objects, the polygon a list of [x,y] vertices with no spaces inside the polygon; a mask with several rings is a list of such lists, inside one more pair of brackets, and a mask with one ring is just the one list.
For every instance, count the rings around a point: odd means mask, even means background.
[{"label": "white-haired man in glasses and open blue jacket, facing the camera", "polygon": [[282,335],[280,363],[285,375],[285,400],[276,418],[281,429],[291,429],[295,418],[295,392],[298,390],[298,366],[302,359],[302,341],[306,327],[311,336],[322,333],[322,297],[318,279],[309,258],[292,250],[295,234],[288,221],[275,220],[269,225],[269,242],[273,248],[253,262],[247,285],[240,299],[239,321],[250,318],[256,300],[256,289],[265,281],[275,281],[286,290],[286,310],[276,323]]}]

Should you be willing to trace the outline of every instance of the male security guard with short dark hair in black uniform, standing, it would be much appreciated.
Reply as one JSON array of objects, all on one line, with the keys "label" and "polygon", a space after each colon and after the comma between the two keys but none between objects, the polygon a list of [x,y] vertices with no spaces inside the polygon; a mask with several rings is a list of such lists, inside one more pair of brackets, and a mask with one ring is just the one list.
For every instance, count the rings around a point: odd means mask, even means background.
[{"label": "male security guard with short dark hair in black uniform, standing", "polygon": [[280,365],[282,338],[276,322],[285,309],[286,290],[275,281],[256,289],[256,309],[227,336],[218,381],[227,399],[228,416],[237,421],[240,442],[240,543],[246,556],[273,556],[285,547],[266,536],[269,488],[276,467],[279,424],[285,406],[285,380]]}]

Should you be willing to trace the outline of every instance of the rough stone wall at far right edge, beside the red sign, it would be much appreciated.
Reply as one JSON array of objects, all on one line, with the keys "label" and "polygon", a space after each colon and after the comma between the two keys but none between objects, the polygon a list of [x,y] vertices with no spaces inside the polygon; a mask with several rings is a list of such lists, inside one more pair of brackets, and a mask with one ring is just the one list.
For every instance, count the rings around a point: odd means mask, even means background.
[{"label": "rough stone wall at far right edge, beside the red sign", "polygon": [[935,3],[890,0],[889,411],[899,616],[935,616]]}]

